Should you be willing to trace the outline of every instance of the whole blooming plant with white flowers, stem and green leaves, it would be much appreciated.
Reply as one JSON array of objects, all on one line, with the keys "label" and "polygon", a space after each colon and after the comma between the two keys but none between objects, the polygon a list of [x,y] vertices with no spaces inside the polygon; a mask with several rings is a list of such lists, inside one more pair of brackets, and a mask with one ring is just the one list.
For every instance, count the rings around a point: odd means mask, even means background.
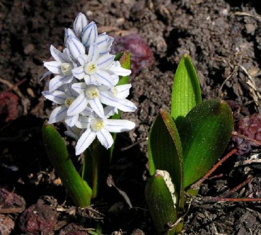
[{"label": "whole blooming plant with white flowers, stem and green leaves", "polygon": [[[120,119],[121,112],[136,110],[127,99],[130,52],[110,54],[112,42],[112,37],[98,34],[97,25],[79,13],[73,29],[65,29],[64,49],[51,46],[54,60],[44,62],[49,71],[43,77],[54,77],[42,94],[56,107],[43,125],[43,141],[55,171],[79,207],[89,206],[91,198],[102,192],[116,133],[135,127],[134,122]],[[65,135],[77,141],[75,154],[83,153],[81,174],[52,125],[59,121],[67,127]]]}]

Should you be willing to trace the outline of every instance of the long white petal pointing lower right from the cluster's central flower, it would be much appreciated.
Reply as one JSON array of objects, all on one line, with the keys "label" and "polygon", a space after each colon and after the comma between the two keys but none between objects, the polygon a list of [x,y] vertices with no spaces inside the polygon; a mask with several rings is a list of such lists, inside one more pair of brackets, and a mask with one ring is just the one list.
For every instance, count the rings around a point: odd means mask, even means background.
[{"label": "long white petal pointing lower right from the cluster's central flower", "polygon": [[102,103],[117,107],[124,112],[134,112],[137,108],[130,100],[117,98],[110,92],[100,92],[100,99]]}]

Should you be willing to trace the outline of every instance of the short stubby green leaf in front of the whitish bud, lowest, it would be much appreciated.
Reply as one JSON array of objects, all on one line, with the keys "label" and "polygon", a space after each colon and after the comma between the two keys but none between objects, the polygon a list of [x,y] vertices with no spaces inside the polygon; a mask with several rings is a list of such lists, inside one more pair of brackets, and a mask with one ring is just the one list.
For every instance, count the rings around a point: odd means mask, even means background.
[{"label": "short stubby green leaf in front of the whitish bud, lowest", "polygon": [[153,175],[145,187],[145,199],[158,235],[174,235],[169,224],[177,220],[177,212],[171,193],[161,175]]}]

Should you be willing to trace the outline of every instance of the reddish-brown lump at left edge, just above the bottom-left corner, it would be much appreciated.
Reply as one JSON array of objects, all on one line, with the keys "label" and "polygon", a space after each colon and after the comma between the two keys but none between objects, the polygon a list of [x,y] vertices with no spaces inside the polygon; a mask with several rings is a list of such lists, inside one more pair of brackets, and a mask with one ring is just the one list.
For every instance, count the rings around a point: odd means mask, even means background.
[{"label": "reddish-brown lump at left edge, just above the bottom-left corner", "polygon": [[5,188],[0,188],[0,214],[23,212],[26,209],[25,199]]}]

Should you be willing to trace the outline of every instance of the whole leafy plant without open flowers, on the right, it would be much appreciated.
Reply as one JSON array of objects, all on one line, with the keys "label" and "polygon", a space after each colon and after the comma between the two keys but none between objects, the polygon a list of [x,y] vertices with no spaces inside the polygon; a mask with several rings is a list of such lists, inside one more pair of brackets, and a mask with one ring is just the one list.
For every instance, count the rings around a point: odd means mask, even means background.
[{"label": "whole leafy plant without open flowers, on the right", "polygon": [[159,235],[174,235],[172,226],[184,214],[185,192],[202,178],[225,151],[233,129],[229,105],[201,99],[197,72],[188,55],[178,65],[172,88],[171,113],[161,109],[149,132],[150,179],[145,198]]}]

